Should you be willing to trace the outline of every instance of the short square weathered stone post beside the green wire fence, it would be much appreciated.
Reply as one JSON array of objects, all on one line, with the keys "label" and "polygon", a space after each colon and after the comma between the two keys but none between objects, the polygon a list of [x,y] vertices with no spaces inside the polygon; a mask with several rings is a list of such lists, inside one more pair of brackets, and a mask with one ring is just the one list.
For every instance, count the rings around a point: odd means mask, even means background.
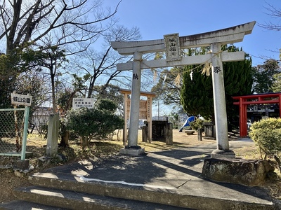
[{"label": "short square weathered stone post beside the green wire fence", "polygon": [[51,114],[48,117],[47,156],[51,157],[58,153],[58,114]]}]

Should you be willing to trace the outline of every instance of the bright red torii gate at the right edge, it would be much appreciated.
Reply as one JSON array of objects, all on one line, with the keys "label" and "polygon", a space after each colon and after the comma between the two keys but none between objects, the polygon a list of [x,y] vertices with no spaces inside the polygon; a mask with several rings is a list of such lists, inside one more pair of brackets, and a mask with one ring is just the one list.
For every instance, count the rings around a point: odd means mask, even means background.
[{"label": "bright red torii gate at the right edge", "polygon": [[[251,104],[279,104],[279,117],[281,116],[281,92],[250,94],[244,96],[233,97],[239,102],[233,102],[239,105],[240,114],[240,137],[247,136],[247,105]],[[251,99],[249,101],[248,99]]]}]

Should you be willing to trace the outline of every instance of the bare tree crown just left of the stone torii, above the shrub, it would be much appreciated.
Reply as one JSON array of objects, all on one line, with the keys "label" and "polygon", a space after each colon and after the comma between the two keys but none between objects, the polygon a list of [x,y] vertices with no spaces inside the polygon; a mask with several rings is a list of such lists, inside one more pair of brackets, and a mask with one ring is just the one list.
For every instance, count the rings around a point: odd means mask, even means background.
[{"label": "bare tree crown just left of the stone torii, above the shrub", "polygon": [[[102,34],[104,43],[102,50],[98,51],[93,46],[86,51],[79,53],[72,62],[74,66],[73,74],[76,78],[77,87],[86,90],[85,97],[93,97],[93,92],[103,92],[113,80],[124,81],[122,71],[117,71],[116,64],[122,61],[128,61],[130,57],[120,57],[112,49],[110,41],[132,41],[139,39],[138,28],[127,29],[121,25],[115,25]],[[103,84],[103,88],[97,87]],[[97,87],[97,88],[96,88]]]}]

